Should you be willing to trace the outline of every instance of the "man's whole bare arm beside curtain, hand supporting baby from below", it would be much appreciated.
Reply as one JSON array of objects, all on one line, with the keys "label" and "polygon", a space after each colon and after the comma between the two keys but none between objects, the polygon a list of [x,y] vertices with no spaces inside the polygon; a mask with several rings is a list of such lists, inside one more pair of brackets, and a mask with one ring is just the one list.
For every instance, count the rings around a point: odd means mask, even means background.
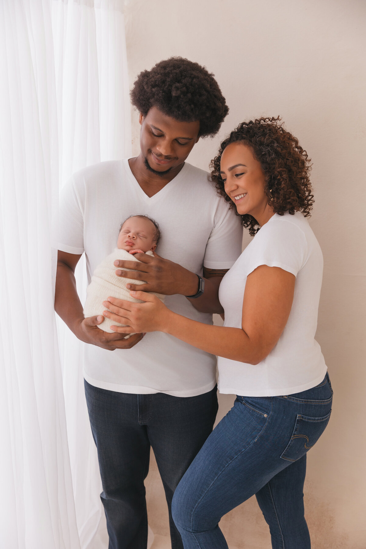
[{"label": "man's whole bare arm beside curtain, hand supporting baby from below", "polygon": [[[76,291],[74,275],[80,257],[81,254],[68,254],[65,251],[58,251],[55,311],[67,324],[71,332],[81,341],[110,351],[131,349],[143,338],[143,334],[135,334],[131,338],[123,339],[124,334],[110,334],[98,328],[98,324],[104,321],[103,315],[84,318],[83,307]],[[98,320],[99,317],[100,320]]]}]

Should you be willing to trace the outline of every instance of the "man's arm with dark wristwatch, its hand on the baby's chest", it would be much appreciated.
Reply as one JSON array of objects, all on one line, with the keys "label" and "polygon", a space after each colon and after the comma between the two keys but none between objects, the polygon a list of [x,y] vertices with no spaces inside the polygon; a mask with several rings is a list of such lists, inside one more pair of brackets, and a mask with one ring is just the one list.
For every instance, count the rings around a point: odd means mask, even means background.
[{"label": "man's arm with dark wristwatch, its hand on the baby's chest", "polygon": [[[117,276],[146,281],[145,284],[140,285],[127,284],[128,290],[184,296],[194,295],[198,292],[198,276],[181,265],[155,253],[154,257],[136,254],[136,258],[139,261],[116,260],[114,262]],[[120,271],[118,267],[133,269],[133,271]],[[223,312],[218,300],[218,287],[226,272],[226,269],[204,268],[205,292],[199,298],[189,299],[196,310],[211,314]]]}]

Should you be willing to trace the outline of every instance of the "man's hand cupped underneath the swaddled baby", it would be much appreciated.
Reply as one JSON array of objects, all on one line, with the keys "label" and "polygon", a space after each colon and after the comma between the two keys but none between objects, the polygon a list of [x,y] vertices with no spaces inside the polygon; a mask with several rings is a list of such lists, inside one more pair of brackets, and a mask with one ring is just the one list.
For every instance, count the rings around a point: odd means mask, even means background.
[{"label": "man's hand cupped underneath the swaddled baby", "polygon": [[[98,320],[99,319],[99,320]],[[115,349],[131,349],[136,343],[138,343],[145,334],[133,334],[128,339],[123,339],[126,334],[104,332],[98,328],[98,324],[102,324],[104,317],[91,316],[81,319],[75,326],[74,333],[78,339],[85,343],[91,343],[97,345],[102,349],[108,351],[114,351]]]}]

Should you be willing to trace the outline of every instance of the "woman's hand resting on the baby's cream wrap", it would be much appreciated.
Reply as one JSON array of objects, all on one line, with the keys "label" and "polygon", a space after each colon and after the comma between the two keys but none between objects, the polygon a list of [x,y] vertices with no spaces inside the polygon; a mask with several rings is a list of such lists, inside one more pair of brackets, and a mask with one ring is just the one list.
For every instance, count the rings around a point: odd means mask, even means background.
[{"label": "woman's hand resting on the baby's cream wrap", "polygon": [[111,326],[111,330],[121,334],[134,332],[165,332],[169,323],[171,311],[160,301],[156,295],[146,292],[129,292],[135,299],[143,303],[133,303],[123,299],[109,297],[103,301],[103,305],[109,311],[103,311],[103,315],[110,320],[127,326]]}]

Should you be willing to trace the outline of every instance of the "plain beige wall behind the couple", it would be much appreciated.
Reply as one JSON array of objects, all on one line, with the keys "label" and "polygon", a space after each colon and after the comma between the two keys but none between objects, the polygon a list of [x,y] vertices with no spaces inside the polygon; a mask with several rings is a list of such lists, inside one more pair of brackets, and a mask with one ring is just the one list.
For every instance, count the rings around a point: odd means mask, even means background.
[{"label": "plain beige wall behind the couple", "polygon": [[[126,2],[131,83],[157,61],[182,55],[212,71],[227,99],[219,136],[196,145],[192,164],[207,169],[219,140],[260,115],[281,115],[312,157],[311,226],[324,254],[317,339],[335,391],[329,427],[308,454],[306,517],[317,549],[366,547],[365,8],[361,0]],[[134,111],[132,121],[136,153]],[[220,417],[232,400],[220,397]],[[147,490],[151,528],[167,535],[154,461]],[[253,498],[221,525],[231,549],[271,546]]]}]

